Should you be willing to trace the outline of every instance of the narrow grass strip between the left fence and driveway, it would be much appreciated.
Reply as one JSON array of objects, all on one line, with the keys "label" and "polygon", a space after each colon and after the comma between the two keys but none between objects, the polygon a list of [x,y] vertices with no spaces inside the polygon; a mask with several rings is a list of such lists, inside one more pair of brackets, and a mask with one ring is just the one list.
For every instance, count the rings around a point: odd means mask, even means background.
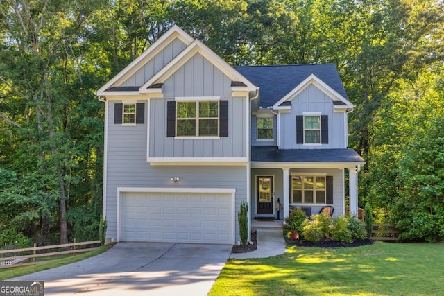
[{"label": "narrow grass strip between the left fence and driveway", "polygon": [[[22,275],[28,275],[33,272],[42,271],[50,268],[56,268],[62,265],[67,265],[69,263],[74,263],[83,259],[87,259],[92,256],[96,256],[108,250],[114,244],[105,245],[104,247],[99,247],[99,249],[94,251],[85,252],[83,254],[76,255],[60,255],[51,257],[42,257],[36,259],[36,261],[41,261],[42,259],[48,260],[47,262],[40,262],[35,265],[25,265],[17,266],[12,268],[1,268],[0,269],[0,281],[5,279],[11,279],[12,277],[20,277]],[[32,259],[31,259],[32,260]]]}]

